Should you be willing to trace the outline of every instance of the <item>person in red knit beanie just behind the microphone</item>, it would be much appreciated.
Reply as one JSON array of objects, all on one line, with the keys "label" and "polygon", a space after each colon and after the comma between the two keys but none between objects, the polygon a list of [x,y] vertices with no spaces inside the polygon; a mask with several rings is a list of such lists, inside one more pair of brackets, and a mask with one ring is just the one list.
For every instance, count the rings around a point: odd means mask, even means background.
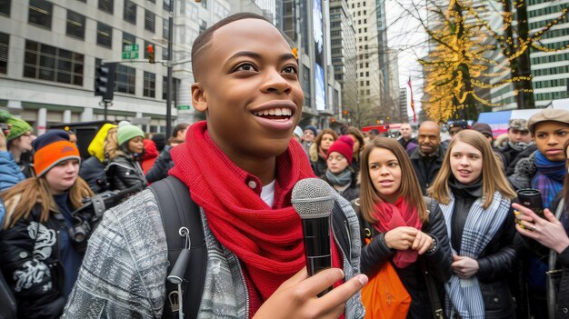
[{"label": "person in red knit beanie just behind the microphone", "polygon": [[334,190],[348,202],[360,196],[357,176],[351,166],[353,147],[354,141],[349,136],[340,136],[328,149],[328,154],[326,155],[328,169],[320,177],[326,183],[332,185]]}]

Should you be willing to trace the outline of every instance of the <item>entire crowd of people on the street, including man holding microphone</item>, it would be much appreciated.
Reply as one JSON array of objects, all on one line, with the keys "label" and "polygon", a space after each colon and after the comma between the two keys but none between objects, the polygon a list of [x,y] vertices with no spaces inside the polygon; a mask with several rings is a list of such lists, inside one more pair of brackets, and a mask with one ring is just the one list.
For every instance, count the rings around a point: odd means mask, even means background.
[{"label": "entire crowd of people on the street, including man holding microphone", "polygon": [[[385,305],[360,290],[389,266],[410,298],[401,318],[569,318],[568,111],[511,120],[503,145],[490,125],[461,121],[448,141],[432,121],[401,125],[398,138],[303,129],[296,58],[253,14],[205,30],[192,63],[206,120],[167,140],[107,124],[81,158],[76,136],[36,137],[0,111],[0,284],[14,316],[177,316],[167,223],[146,188],[170,175],[204,222],[197,317],[377,318]],[[291,204],[310,177],[330,184],[341,221],[333,268],[313,276]],[[543,213],[520,203],[524,189],[539,191]],[[100,194],[121,198],[91,224],[77,212]]]}]

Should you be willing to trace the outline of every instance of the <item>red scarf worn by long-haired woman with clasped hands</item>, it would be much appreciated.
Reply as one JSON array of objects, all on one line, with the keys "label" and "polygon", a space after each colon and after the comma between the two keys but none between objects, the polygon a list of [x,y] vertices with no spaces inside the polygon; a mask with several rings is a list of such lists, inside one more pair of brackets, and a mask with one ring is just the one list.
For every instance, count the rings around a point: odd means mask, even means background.
[{"label": "red scarf worn by long-haired woman with clasped hands", "polygon": [[[409,226],[421,230],[423,224],[417,214],[417,209],[412,208],[404,201],[403,197],[399,197],[394,204],[382,201],[375,204],[375,229],[381,233],[387,233],[390,230],[400,227]],[[398,250],[393,258],[394,264],[398,268],[405,268],[409,264],[413,264],[417,260],[417,251],[412,249]]]}]

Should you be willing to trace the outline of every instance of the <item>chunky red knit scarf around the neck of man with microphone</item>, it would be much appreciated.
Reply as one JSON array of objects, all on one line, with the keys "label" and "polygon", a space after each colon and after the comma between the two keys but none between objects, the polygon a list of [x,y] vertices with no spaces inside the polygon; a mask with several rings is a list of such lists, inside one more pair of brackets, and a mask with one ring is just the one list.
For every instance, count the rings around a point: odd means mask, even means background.
[{"label": "chunky red knit scarf around the neck of man with microphone", "polygon": [[290,200],[294,184],[314,173],[300,144],[290,143],[276,157],[273,208],[247,186],[245,179],[260,181],[215,145],[205,122],[190,126],[185,143],[171,154],[169,174],[190,188],[215,238],[245,265],[263,300],[304,267],[302,224]]}]

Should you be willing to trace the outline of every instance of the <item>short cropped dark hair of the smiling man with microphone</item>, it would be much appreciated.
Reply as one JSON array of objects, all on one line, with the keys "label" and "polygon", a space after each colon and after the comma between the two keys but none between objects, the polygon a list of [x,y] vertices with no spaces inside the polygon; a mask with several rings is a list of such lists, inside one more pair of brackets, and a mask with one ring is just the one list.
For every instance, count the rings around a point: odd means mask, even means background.
[{"label": "short cropped dark hair of the smiling man with microphone", "polygon": [[[198,65],[202,65],[198,63],[198,57],[204,55],[204,51],[207,45],[209,45],[214,37],[215,31],[224,25],[229,25],[234,23],[235,21],[244,20],[244,19],[259,19],[265,20],[269,24],[271,23],[269,20],[265,18],[263,15],[256,15],[248,12],[242,12],[235,15],[229,15],[224,19],[219,20],[212,25],[205,29],[203,33],[197,35],[194,41],[194,45],[192,45],[192,72],[194,73],[194,80],[195,82],[199,81],[199,75],[201,72],[198,70]],[[272,25],[272,24],[271,24]]]}]

